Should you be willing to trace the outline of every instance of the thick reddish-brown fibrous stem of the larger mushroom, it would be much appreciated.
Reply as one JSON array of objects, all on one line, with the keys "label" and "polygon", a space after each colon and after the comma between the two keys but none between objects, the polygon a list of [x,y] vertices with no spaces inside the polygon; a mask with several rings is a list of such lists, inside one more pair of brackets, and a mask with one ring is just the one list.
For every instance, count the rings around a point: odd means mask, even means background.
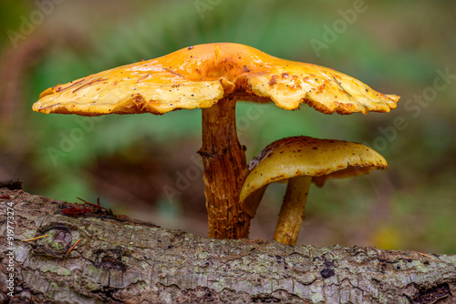
[{"label": "thick reddish-brown fibrous stem of the larger mushroom", "polygon": [[204,195],[209,238],[247,238],[250,217],[239,203],[248,175],[244,148],[239,143],[235,119],[236,99],[224,98],[202,109]]}]

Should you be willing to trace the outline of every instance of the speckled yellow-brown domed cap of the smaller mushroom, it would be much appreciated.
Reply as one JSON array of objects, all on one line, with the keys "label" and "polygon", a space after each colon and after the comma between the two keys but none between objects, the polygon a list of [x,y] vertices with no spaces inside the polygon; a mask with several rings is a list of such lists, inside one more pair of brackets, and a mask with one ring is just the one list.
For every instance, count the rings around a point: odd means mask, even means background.
[{"label": "speckled yellow-brown domed cap of the smaller mushroom", "polygon": [[370,147],[334,139],[286,137],[276,140],[249,164],[240,201],[270,183],[292,177],[310,176],[317,186],[326,179],[356,177],[372,169],[388,168],[387,161]]}]

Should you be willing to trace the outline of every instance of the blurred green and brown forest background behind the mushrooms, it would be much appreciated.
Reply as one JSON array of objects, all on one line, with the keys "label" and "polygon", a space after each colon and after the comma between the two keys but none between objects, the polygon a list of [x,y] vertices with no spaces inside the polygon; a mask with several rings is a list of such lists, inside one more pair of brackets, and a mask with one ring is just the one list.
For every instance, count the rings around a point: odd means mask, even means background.
[{"label": "blurred green and brown forest background behind the mushrooms", "polygon": [[[456,253],[455,12],[451,1],[2,1],[0,181],[67,201],[100,197],[119,214],[205,236],[200,110],[86,120],[31,106],[88,74],[236,42],[401,96],[389,114],[366,116],[238,103],[248,160],[305,135],[361,142],[389,162],[312,186],[298,244]],[[251,238],[272,238],[284,194],[284,184],[268,188]]]}]

